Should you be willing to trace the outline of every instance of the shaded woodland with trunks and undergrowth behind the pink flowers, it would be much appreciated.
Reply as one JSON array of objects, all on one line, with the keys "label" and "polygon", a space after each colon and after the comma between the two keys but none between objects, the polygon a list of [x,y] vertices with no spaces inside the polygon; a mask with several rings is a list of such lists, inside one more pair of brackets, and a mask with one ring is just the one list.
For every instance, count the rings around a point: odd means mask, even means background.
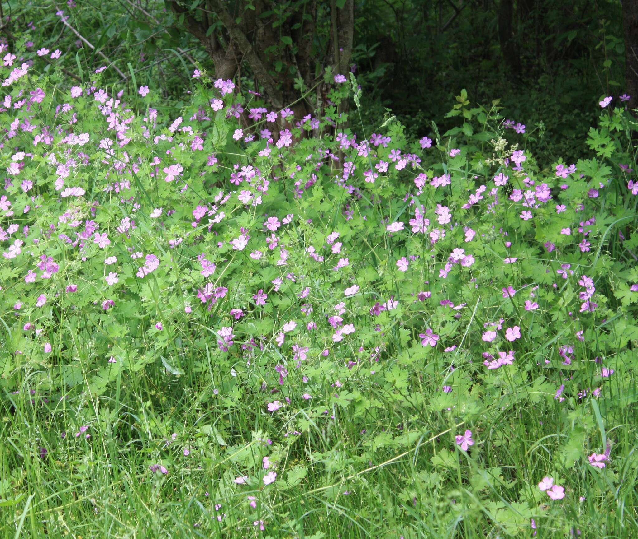
[{"label": "shaded woodland with trunks and undergrowth behind the pink flowers", "polygon": [[[550,160],[578,153],[602,97],[614,96],[619,106],[625,92],[638,94],[638,57],[625,47],[638,42],[638,0],[12,0],[2,6],[0,32],[10,45],[59,48],[67,76],[110,66],[103,76],[118,88],[132,85],[132,72],[166,104],[186,98],[193,69],[201,66],[234,78],[242,90],[257,90],[272,108],[297,101],[297,116],[318,114],[327,104],[325,69],[352,70],[371,129],[386,109],[414,135],[430,134],[433,120],[454,125],[445,113],[466,89],[471,103],[501,99],[503,114],[526,124]],[[53,71],[42,63],[36,68]]]}]

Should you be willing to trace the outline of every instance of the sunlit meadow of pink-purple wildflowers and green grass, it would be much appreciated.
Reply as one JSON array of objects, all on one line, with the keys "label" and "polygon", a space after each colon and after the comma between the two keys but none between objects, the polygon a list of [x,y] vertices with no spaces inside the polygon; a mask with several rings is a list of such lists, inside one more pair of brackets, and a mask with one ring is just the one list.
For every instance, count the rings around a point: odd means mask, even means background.
[{"label": "sunlit meadow of pink-purple wildflowers and green grass", "polygon": [[352,69],[299,113],[14,37],[0,537],[638,536],[621,87],[561,156],[464,89],[408,129]]}]

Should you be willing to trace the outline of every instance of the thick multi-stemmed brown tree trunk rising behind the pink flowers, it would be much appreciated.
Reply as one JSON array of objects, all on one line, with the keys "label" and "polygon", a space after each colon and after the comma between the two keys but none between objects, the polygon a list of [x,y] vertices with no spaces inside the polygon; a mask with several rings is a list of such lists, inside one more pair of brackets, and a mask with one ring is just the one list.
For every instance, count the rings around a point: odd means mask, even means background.
[{"label": "thick multi-stemmed brown tree trunk rising behind the pink flowers", "polygon": [[[216,78],[234,78],[242,63],[246,64],[263,88],[265,101],[275,110],[290,106],[295,120],[322,108],[323,92],[308,92],[321,80],[321,69],[330,65],[335,73],[346,76],[350,71],[354,0],[345,0],[343,8],[332,1],[329,28],[333,46],[322,57],[317,57],[316,32],[325,26],[317,21],[316,0],[291,4],[285,16],[274,0],[205,0],[204,11],[188,8],[181,0],[167,1],[184,29],[202,43],[214,63]],[[211,31],[216,21],[221,22],[221,31]],[[299,78],[308,94],[303,99],[299,99],[302,93],[295,82]],[[318,89],[322,90],[321,84]]]}]

